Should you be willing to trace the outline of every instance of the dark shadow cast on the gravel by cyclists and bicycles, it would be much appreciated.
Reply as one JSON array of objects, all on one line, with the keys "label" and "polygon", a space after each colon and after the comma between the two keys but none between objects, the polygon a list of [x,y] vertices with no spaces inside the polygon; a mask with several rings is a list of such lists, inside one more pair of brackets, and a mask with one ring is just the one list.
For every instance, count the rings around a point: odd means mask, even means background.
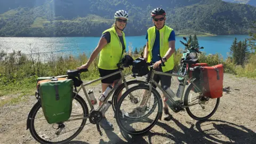
[{"label": "dark shadow cast on the gravel by cyclists and bicycles", "polygon": [[[171,121],[170,125],[158,121],[156,125],[162,127],[165,130],[164,133],[149,131],[141,135],[130,135],[121,131],[126,142],[113,131],[106,130],[109,141],[105,142],[101,139],[100,143],[153,143],[151,139],[155,135],[168,139],[167,141],[159,141],[161,143],[254,143],[256,139],[256,133],[252,130],[230,122],[219,120],[198,121],[196,124],[186,122],[190,125],[187,127],[175,118],[172,121],[180,127],[181,131],[171,127],[173,125]],[[145,137],[147,138],[144,139]],[[80,143],[83,144],[83,142]]]}]

